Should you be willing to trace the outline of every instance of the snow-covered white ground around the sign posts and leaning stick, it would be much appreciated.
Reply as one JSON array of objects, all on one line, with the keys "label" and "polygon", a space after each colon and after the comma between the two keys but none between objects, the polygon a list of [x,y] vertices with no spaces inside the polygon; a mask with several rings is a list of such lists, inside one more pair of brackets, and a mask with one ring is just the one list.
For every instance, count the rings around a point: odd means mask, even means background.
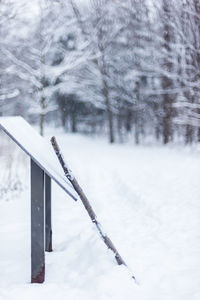
[{"label": "snow-covered white ground around the sign posts and leaning stick", "polygon": [[0,151],[0,181],[12,165],[25,188],[1,194],[0,300],[199,300],[200,152],[57,140],[138,284],[116,265],[82,203],[54,184],[54,252],[45,283],[30,284],[29,161],[13,147],[12,163]]}]

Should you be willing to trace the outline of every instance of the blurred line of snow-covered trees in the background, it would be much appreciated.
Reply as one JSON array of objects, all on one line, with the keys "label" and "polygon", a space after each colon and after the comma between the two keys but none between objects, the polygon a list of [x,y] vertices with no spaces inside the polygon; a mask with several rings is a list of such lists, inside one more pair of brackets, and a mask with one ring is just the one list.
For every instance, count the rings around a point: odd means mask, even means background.
[{"label": "blurred line of snow-covered trees in the background", "polygon": [[199,0],[0,1],[0,115],[200,142]]}]

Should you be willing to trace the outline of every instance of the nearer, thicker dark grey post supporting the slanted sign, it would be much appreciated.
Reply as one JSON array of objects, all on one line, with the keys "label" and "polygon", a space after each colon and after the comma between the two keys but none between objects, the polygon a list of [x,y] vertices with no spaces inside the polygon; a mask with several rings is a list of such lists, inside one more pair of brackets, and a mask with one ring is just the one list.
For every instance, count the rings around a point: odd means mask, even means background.
[{"label": "nearer, thicker dark grey post supporting the slanted sign", "polygon": [[31,282],[44,277],[44,171],[31,159]]}]

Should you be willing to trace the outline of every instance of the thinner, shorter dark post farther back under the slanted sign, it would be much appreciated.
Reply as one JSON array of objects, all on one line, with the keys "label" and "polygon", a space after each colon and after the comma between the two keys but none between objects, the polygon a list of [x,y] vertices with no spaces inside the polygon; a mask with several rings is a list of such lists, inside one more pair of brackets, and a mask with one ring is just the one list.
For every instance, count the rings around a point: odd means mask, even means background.
[{"label": "thinner, shorter dark post farther back under the slanted sign", "polygon": [[45,250],[52,251],[51,178],[45,173]]}]

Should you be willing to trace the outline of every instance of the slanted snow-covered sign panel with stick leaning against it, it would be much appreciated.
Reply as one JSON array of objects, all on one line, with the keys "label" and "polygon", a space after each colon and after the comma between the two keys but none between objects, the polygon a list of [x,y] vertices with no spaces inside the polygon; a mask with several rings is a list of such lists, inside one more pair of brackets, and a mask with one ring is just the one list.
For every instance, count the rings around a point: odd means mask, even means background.
[{"label": "slanted snow-covered sign panel with stick leaning against it", "polygon": [[41,137],[22,117],[0,118],[2,128],[73,199],[77,194],[63,175],[50,141]]}]

